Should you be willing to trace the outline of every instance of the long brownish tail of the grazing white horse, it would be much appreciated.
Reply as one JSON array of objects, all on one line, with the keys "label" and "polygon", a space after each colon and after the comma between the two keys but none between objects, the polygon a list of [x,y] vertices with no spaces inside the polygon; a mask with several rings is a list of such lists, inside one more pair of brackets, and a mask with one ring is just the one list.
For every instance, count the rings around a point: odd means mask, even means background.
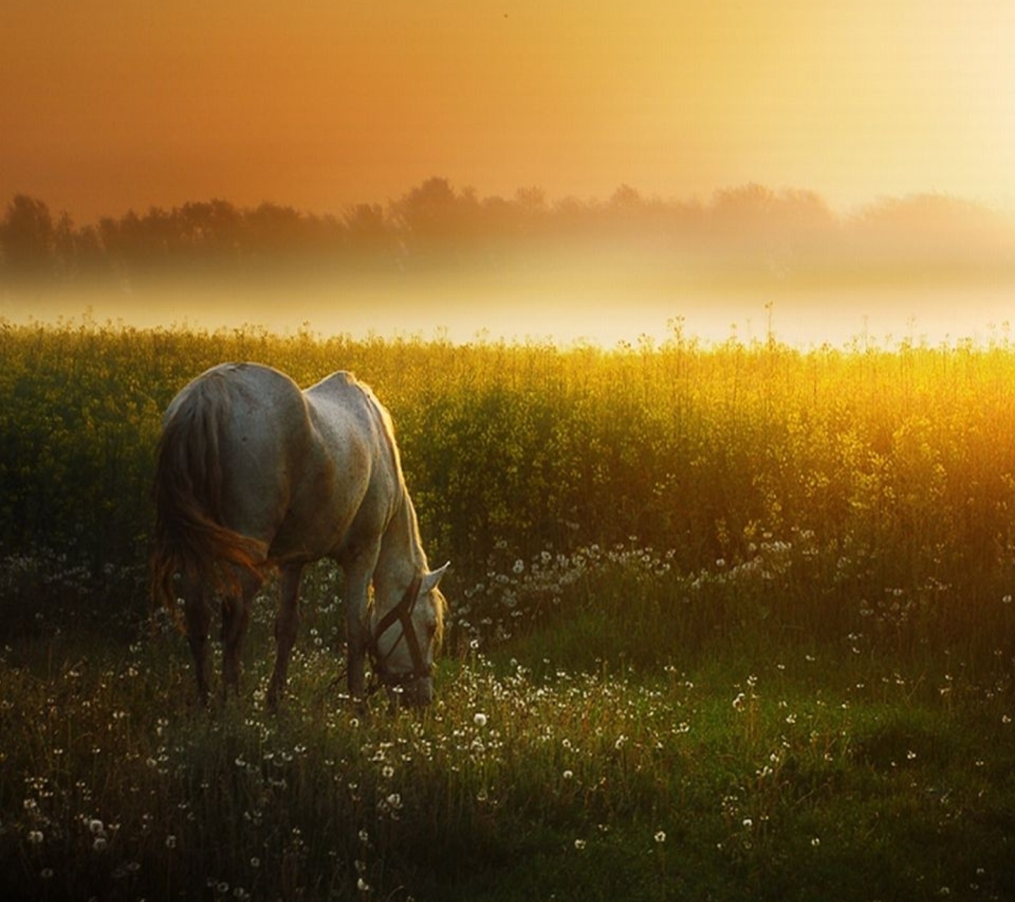
[{"label": "long brownish tail of the grazing white horse", "polygon": [[155,541],[152,596],[176,610],[176,573],[232,595],[239,573],[264,577],[267,546],[225,526],[222,510],[221,427],[229,398],[217,380],[203,379],[165,423],[158,442],[153,498]]}]

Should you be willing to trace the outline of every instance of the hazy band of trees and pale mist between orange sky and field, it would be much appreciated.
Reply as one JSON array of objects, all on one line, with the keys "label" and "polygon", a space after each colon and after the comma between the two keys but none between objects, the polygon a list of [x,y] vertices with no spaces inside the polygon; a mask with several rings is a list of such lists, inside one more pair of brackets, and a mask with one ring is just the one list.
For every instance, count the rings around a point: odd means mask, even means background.
[{"label": "hazy band of trees and pale mist between orange sky and field", "polygon": [[1007,329],[1015,224],[936,194],[851,213],[746,185],[707,202],[621,186],[480,198],[430,179],[317,215],[216,200],[77,225],[19,195],[0,221],[0,317],[139,327],[591,342],[675,327],[706,342],[990,341]]}]

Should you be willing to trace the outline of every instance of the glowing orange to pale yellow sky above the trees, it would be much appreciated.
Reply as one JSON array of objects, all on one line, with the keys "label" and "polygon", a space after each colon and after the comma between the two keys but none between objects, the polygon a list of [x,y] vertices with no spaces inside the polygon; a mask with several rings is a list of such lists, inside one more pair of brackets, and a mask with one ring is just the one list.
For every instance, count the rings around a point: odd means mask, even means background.
[{"label": "glowing orange to pale yellow sky above the trees", "polygon": [[1015,4],[5,0],[0,203],[79,222],[748,181],[1015,208]]}]

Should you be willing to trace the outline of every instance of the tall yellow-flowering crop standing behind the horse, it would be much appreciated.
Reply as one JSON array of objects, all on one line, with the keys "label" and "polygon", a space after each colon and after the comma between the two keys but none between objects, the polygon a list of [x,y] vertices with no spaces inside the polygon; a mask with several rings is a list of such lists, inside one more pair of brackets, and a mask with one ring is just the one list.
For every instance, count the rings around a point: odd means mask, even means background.
[{"label": "tall yellow-flowering crop standing behind the horse", "polygon": [[349,368],[374,386],[424,537],[470,575],[497,542],[528,558],[635,536],[688,570],[794,528],[858,579],[953,585],[1010,560],[1007,339],[800,352],[703,347],[678,326],[660,347],[607,353],[86,321],[6,324],[0,353],[7,554],[143,558],[161,411],[207,366],[256,359],[303,385]]}]

